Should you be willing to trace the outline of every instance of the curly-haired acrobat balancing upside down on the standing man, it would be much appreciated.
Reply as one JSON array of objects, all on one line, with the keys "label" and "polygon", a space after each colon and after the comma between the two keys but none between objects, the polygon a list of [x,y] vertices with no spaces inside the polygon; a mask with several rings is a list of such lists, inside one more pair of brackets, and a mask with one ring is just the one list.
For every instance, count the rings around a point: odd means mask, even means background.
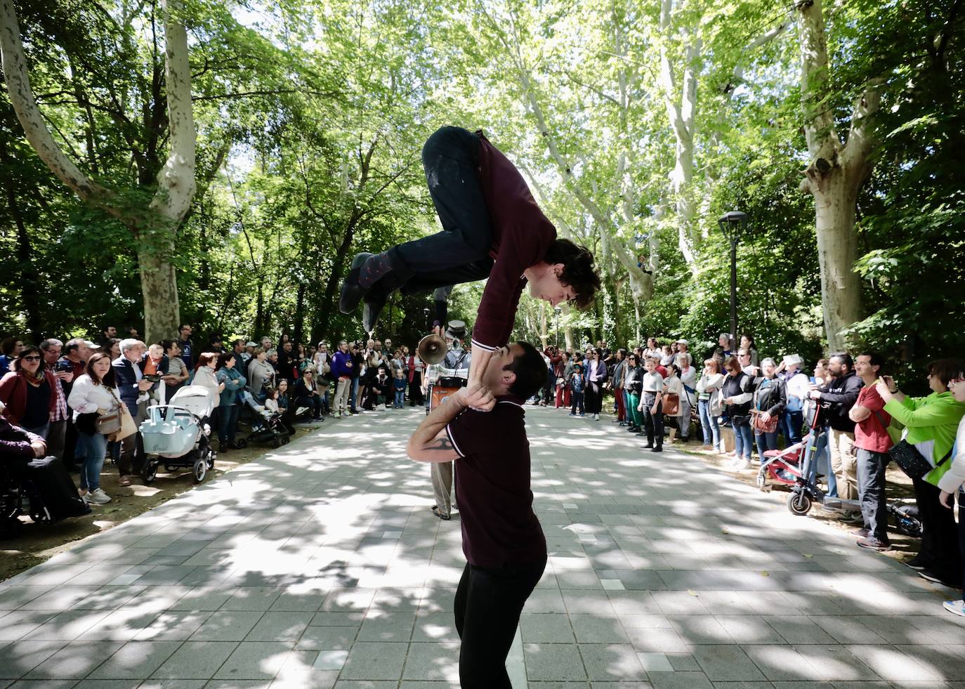
[{"label": "curly-haired acrobat balancing upside down on the standing man", "polygon": [[[600,289],[593,255],[556,229],[510,160],[475,133],[444,126],[423,147],[423,167],[443,231],[352,261],[339,300],[344,314],[365,301],[372,332],[396,289],[439,289],[488,278],[473,328],[469,383],[479,383],[492,352],[509,343],[523,288],[553,306],[593,303]],[[440,320],[440,323],[444,320]],[[495,402],[484,400],[483,408]]]}]

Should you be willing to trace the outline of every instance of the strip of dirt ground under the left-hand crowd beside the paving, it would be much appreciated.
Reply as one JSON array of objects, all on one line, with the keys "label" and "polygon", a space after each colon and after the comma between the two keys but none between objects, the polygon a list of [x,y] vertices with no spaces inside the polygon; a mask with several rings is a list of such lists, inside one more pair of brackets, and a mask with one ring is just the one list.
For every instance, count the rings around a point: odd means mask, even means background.
[{"label": "strip of dirt ground under the left-hand crowd beside the paving", "polygon": [[[294,438],[300,438],[318,426],[295,427]],[[214,468],[207,473],[205,482],[231,471],[240,464],[270,452],[266,447],[248,447],[218,455]],[[72,475],[76,482],[77,475]],[[112,500],[107,505],[92,506],[91,514],[65,519],[56,524],[34,524],[29,517],[20,517],[23,527],[20,535],[10,540],[0,540],[0,581],[9,579],[19,572],[40,565],[48,558],[64,550],[83,538],[107,531],[128,519],[142,514],[175,496],[190,490],[195,483],[189,469],[176,470],[167,474],[164,466],[157,470],[157,478],[151,485],[140,484],[138,478],[132,485],[118,486],[117,468],[109,461],[104,464],[100,477],[100,487]]]}]

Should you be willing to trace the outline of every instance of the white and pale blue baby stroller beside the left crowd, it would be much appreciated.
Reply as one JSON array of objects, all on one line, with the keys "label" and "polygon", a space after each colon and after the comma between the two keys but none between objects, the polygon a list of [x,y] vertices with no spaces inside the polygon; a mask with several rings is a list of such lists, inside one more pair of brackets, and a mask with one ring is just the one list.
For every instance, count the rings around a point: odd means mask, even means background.
[{"label": "white and pale blue baby stroller beside the left crowd", "polygon": [[190,467],[194,482],[205,480],[207,470],[214,467],[207,423],[213,409],[214,400],[200,385],[186,385],[169,403],[148,407],[148,418],[141,424],[145,483],[154,481],[160,464],[169,472]]}]

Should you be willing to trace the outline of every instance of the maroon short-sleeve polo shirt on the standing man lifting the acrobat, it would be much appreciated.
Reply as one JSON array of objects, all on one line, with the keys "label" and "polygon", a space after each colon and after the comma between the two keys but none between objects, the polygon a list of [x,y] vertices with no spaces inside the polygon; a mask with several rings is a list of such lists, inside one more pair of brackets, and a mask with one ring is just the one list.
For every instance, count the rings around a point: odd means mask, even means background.
[{"label": "maroon short-sleeve polo shirt on the standing man lifting the acrobat", "polygon": [[466,409],[446,432],[458,453],[455,496],[462,552],[470,565],[498,567],[546,558],[533,511],[530,442],[520,400],[502,397],[492,411]]}]

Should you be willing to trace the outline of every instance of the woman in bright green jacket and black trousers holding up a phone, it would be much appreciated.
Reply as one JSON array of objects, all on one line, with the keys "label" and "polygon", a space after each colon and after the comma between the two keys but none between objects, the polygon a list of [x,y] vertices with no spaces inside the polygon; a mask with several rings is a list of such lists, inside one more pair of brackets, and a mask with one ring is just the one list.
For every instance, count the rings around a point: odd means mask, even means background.
[{"label": "woman in bright green jacket and black trousers holding up a phone", "polygon": [[925,398],[905,397],[888,376],[875,383],[885,400],[885,411],[906,428],[904,439],[935,467],[923,478],[912,481],[923,535],[918,556],[905,564],[918,570],[923,579],[952,588],[962,585],[962,554],[954,516],[938,502],[938,482],[951,467],[949,455],[955,431],[965,415],[965,402],[955,400],[949,391],[949,383],[963,369],[965,364],[957,359],[928,364],[928,386],[932,392]]}]

